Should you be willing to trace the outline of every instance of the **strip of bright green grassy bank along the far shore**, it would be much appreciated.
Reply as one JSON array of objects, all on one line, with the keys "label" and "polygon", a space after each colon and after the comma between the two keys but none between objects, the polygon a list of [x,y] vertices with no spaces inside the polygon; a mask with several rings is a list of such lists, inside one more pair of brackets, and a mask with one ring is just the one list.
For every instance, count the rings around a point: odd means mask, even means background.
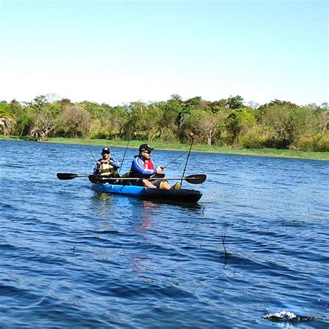
[{"label": "strip of bright green grassy bank along the far shore", "polygon": [[[17,137],[17,136],[4,136],[0,135],[0,140],[31,140],[31,137]],[[89,144],[98,146],[118,146],[126,147],[128,141],[126,140],[83,140],[75,138],[48,138],[47,143],[60,143],[60,144]],[[158,150],[177,150],[187,151],[189,144],[177,144],[167,142],[147,142],[141,140],[131,140],[129,148],[137,149],[140,144],[149,143],[152,147]],[[194,144],[193,151],[198,152],[211,152],[211,153],[227,153],[239,155],[258,155],[269,156],[278,158],[298,158],[310,160],[329,160],[329,152],[304,152],[304,151],[291,151],[291,150],[278,150],[278,149],[233,149],[228,147],[208,146]]]}]

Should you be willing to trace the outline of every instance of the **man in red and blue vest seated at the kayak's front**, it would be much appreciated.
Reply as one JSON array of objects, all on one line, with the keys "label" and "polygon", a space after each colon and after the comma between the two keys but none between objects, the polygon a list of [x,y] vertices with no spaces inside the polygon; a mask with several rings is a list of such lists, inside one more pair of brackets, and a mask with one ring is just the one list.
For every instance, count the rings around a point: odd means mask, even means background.
[{"label": "man in red and blue vest seated at the kayak's front", "polygon": [[133,185],[145,186],[150,188],[160,189],[180,189],[180,183],[176,183],[173,187],[170,187],[167,180],[155,179],[149,180],[151,176],[155,174],[162,174],[165,171],[165,167],[155,167],[153,160],[151,159],[151,153],[154,149],[149,144],[140,145],[139,154],[135,155],[133,162],[131,163],[130,177],[140,178],[140,180],[133,180]]}]

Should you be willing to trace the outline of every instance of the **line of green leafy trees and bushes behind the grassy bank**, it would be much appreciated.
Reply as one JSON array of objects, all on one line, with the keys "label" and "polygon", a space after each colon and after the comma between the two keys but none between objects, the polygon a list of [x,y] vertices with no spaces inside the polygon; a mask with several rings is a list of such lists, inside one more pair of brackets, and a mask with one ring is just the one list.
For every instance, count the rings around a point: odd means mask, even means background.
[{"label": "line of green leafy trees and bushes behind the grassy bank", "polygon": [[183,101],[132,102],[122,106],[69,99],[51,101],[37,96],[31,102],[0,101],[0,133],[90,139],[189,141],[199,144],[329,151],[328,103],[298,106],[274,100],[263,105],[244,103],[241,96],[205,101],[200,96]]}]

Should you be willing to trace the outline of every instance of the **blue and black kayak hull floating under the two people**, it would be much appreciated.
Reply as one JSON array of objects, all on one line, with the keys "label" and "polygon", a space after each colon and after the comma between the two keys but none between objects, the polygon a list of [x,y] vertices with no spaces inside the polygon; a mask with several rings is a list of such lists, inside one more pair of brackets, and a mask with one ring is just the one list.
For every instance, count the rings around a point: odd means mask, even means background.
[{"label": "blue and black kayak hull floating under the two people", "polygon": [[196,189],[150,189],[135,185],[112,185],[109,183],[92,184],[90,188],[96,192],[121,194],[162,203],[197,203],[202,196],[202,193]]}]

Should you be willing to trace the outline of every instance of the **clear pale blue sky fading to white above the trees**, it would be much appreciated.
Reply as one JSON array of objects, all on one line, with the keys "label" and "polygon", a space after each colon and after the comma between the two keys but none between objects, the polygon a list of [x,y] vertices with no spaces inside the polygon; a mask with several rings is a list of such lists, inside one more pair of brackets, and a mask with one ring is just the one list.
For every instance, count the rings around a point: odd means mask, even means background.
[{"label": "clear pale blue sky fading to white above the trees", "polygon": [[328,1],[0,0],[0,100],[328,102]]}]

